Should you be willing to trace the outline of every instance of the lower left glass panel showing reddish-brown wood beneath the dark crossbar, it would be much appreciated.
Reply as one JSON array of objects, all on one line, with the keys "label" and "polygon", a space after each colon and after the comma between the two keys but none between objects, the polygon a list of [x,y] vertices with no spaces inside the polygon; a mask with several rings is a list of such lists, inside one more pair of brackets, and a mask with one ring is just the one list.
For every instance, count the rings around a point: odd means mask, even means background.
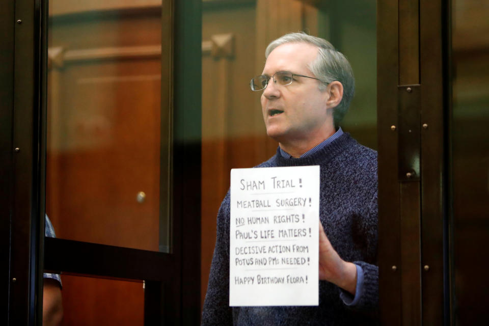
[{"label": "lower left glass panel showing reddish-brown wood beneath the dark crossbar", "polygon": [[[144,287],[142,281],[107,280],[63,274],[61,276],[63,320],[61,325],[143,325]],[[46,295],[43,309],[51,302]],[[47,290],[49,291],[49,290]],[[46,315],[46,311],[44,311]],[[45,316],[47,317],[47,316]]]}]

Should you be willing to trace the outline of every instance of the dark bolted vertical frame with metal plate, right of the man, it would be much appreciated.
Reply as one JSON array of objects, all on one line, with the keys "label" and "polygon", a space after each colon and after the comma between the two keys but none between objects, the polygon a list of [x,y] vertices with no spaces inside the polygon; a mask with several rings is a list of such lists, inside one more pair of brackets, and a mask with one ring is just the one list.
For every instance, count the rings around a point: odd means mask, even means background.
[{"label": "dark bolted vertical frame with metal plate, right of the man", "polygon": [[379,299],[386,325],[450,323],[449,14],[449,1],[377,2]]}]

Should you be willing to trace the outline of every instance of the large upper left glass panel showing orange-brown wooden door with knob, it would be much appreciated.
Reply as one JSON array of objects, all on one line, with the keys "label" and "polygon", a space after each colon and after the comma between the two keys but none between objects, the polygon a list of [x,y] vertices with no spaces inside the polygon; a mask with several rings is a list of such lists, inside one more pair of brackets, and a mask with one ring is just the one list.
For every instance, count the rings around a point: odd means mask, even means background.
[{"label": "large upper left glass panel showing orange-brown wooden door with knob", "polygon": [[59,238],[169,251],[169,6],[49,2],[46,212]]}]

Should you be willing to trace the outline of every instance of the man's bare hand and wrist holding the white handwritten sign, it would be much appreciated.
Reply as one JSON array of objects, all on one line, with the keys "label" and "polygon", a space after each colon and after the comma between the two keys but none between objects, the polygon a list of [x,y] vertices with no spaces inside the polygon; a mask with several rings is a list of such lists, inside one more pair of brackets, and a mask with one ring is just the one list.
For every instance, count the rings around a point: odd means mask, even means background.
[{"label": "man's bare hand and wrist holding the white handwritten sign", "polygon": [[357,266],[346,262],[331,246],[319,221],[319,279],[326,280],[355,295]]}]

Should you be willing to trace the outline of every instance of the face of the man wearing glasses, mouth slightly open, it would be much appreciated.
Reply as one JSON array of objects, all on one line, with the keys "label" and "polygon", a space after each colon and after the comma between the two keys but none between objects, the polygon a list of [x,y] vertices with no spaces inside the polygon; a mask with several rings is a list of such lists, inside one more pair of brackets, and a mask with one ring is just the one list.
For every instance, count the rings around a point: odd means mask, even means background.
[{"label": "face of the man wearing glasses, mouth slightly open", "polygon": [[[316,77],[307,65],[316,59],[318,48],[308,43],[285,43],[269,54],[263,75],[290,71]],[[327,91],[319,90],[319,80],[293,76],[292,84],[269,83],[261,95],[266,133],[281,144],[323,141],[331,130],[332,110],[327,110]],[[317,139],[317,141],[316,141]]]}]

